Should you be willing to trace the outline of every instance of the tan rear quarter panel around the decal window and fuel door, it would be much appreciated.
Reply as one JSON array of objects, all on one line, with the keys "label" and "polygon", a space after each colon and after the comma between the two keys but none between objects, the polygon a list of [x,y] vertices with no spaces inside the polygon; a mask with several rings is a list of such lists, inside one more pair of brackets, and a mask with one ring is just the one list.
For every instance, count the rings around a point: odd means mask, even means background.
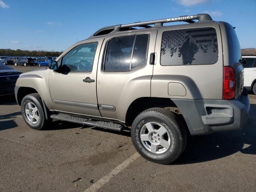
[{"label": "tan rear quarter panel around the decal window and fuel door", "polygon": [[[160,54],[162,33],[166,30],[213,27],[218,41],[218,61],[214,64],[161,66]],[[222,37],[218,22],[198,22],[194,24],[166,26],[158,28],[156,39],[156,63],[151,81],[151,96],[182,99],[222,99],[223,58]],[[186,95],[173,96],[168,92],[169,83],[182,84]],[[169,94],[168,94],[169,93]]]}]

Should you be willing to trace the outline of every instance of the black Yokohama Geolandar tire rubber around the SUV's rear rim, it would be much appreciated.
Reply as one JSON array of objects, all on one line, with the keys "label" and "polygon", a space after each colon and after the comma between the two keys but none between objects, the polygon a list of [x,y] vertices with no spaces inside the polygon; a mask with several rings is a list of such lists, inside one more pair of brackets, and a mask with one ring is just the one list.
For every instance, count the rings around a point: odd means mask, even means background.
[{"label": "black Yokohama Geolandar tire rubber around the SUV's rear rim", "polygon": [[[149,122],[156,122],[156,124],[162,125],[160,128],[163,127],[166,129],[165,134],[169,135],[170,146],[168,149],[165,149],[165,152],[163,150],[160,154],[152,153],[142,143],[140,134],[145,130],[145,124]],[[155,128],[157,127],[154,127],[154,130]],[[151,137],[152,134],[148,132],[148,135]],[[158,139],[162,141],[163,136]],[[132,123],[131,137],[134,147],[141,156],[155,163],[170,164],[171,162],[174,162],[184,151],[187,142],[187,131],[182,120],[174,113],[164,108],[150,108],[140,113],[134,119],[134,122]],[[159,146],[157,147],[157,150],[161,150],[159,149]]]}]

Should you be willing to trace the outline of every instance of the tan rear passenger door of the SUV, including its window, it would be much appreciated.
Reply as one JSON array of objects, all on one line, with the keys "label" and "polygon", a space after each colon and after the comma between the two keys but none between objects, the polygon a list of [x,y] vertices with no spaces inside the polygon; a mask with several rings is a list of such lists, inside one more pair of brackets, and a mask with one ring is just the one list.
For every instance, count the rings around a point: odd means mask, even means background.
[{"label": "tan rear passenger door of the SUV, including its window", "polygon": [[150,97],[156,29],[118,32],[105,38],[97,73],[97,96],[104,118],[125,121],[130,104]]}]

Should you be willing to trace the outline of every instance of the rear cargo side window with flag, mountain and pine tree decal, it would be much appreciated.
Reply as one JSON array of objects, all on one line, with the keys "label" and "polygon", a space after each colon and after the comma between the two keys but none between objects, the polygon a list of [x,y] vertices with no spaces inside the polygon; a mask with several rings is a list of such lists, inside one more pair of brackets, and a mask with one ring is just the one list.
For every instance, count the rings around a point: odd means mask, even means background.
[{"label": "rear cargo side window with flag, mountain and pine tree decal", "polygon": [[160,64],[204,65],[218,61],[218,42],[214,28],[163,32]]}]

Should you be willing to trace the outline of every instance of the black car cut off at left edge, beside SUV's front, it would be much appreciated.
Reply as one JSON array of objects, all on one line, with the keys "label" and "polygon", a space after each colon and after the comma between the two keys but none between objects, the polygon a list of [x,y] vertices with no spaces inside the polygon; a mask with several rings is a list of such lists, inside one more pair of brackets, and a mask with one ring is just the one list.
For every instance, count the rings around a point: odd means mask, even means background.
[{"label": "black car cut off at left edge, beside SUV's front", "polygon": [[0,64],[0,96],[14,94],[14,87],[22,72]]}]

